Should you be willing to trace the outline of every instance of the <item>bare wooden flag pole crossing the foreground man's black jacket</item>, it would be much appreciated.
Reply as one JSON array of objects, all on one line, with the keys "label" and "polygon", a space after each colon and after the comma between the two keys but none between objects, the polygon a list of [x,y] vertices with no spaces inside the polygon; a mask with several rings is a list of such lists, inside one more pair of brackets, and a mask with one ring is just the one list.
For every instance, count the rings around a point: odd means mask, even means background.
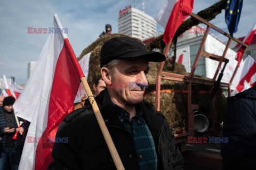
[{"label": "bare wooden flag pole crossing the foreground man's black jacket", "polygon": [[102,134],[103,134],[103,136],[105,138],[105,141],[106,141],[106,143],[108,145],[108,149],[109,149],[110,154],[111,154],[111,156],[112,156],[112,158],[114,160],[114,163],[116,165],[116,169],[117,170],[123,170],[124,166],[122,164],[122,161],[121,161],[121,159],[120,159],[120,157],[118,155],[118,152],[116,150],[115,144],[114,144],[113,140],[111,139],[111,136],[110,136],[110,134],[108,132],[108,128],[107,128],[107,126],[106,126],[106,124],[105,124],[105,122],[104,122],[104,120],[102,118],[102,115],[100,113],[100,109],[99,109],[99,107],[97,105],[97,102],[94,100],[92,91],[91,91],[91,89],[89,87],[89,84],[87,83],[85,77],[81,78],[81,82],[83,84],[85,93],[88,96],[88,99],[89,99],[89,101],[90,101],[90,103],[92,105],[93,112],[94,112],[94,114],[95,114],[95,116],[97,118],[97,121],[98,121],[99,125],[100,125],[101,132],[102,132]]}]

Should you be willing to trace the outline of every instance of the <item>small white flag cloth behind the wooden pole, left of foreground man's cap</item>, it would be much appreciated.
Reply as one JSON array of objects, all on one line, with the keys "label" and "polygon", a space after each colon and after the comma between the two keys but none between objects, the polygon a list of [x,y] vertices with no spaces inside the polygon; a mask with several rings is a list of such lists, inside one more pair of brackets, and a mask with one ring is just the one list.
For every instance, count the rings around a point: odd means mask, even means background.
[{"label": "small white flag cloth behind the wooden pole, left of foreground man's cap", "polygon": [[[85,78],[87,79],[88,77],[88,74],[89,74],[89,61],[90,61],[90,55],[91,53],[88,53],[86,55],[84,55],[84,57],[79,60],[79,64],[84,72],[84,76]],[[77,95],[76,95],[76,99],[74,101],[74,103],[79,103],[81,102],[81,98],[85,95],[85,91],[84,91],[84,87],[82,85],[82,83],[80,83],[80,86],[78,88],[78,91],[77,91]]]}]

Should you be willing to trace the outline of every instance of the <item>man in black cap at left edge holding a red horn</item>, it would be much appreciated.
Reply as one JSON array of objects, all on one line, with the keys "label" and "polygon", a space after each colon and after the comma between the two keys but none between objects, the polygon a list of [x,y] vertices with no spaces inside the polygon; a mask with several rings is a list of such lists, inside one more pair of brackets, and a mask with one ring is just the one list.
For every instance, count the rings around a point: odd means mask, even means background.
[{"label": "man in black cap at left edge holding a red horn", "polygon": [[[0,141],[0,169],[4,169],[5,160],[8,156],[12,169],[18,169],[23,140],[22,134],[24,132],[24,125],[21,125],[18,128],[16,123],[14,112],[13,112],[13,103],[15,99],[12,96],[4,98],[3,106],[0,107],[0,126],[1,129],[1,138]],[[18,118],[19,121],[23,122],[23,119]],[[13,140],[12,137],[16,131],[19,131],[17,140]]]}]

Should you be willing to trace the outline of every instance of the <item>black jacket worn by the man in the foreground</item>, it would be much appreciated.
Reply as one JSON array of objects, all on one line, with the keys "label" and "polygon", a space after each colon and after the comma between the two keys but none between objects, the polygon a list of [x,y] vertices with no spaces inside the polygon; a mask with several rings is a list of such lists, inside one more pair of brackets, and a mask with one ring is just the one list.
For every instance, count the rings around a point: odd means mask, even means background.
[{"label": "black jacket worn by the man in the foreground", "polygon": [[[133,137],[119,121],[107,90],[95,100],[125,169],[139,169]],[[153,136],[161,169],[182,169],[183,158],[175,144],[166,119],[153,104],[141,103],[145,119]],[[89,101],[68,114],[61,122],[56,137],[68,137],[68,143],[54,143],[53,163],[49,169],[116,169]]]}]

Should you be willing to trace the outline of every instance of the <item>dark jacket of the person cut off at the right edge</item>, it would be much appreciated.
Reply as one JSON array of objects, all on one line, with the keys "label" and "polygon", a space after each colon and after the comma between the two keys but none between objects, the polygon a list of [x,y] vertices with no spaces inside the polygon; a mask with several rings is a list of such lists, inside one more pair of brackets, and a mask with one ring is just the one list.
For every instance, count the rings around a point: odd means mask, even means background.
[{"label": "dark jacket of the person cut off at the right edge", "polygon": [[256,168],[256,86],[228,98],[224,118],[222,169]]}]

